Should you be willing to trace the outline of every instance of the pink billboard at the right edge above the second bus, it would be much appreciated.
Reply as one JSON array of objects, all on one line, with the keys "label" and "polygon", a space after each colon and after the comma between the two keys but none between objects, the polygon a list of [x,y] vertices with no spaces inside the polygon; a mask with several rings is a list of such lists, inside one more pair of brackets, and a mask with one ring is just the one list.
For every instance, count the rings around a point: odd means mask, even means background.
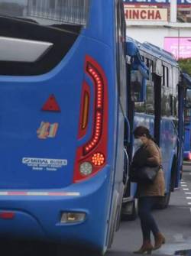
[{"label": "pink billboard at the right edge above the second bus", "polygon": [[173,53],[176,60],[191,58],[191,37],[165,37],[164,49]]}]

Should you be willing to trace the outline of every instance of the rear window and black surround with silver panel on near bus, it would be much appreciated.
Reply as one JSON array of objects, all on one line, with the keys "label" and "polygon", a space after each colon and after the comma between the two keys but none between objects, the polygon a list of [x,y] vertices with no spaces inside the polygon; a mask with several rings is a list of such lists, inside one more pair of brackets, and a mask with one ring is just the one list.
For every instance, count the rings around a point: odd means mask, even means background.
[{"label": "rear window and black surround with silver panel on near bus", "polygon": [[86,26],[89,2],[0,0],[0,75],[36,76],[57,66]]}]

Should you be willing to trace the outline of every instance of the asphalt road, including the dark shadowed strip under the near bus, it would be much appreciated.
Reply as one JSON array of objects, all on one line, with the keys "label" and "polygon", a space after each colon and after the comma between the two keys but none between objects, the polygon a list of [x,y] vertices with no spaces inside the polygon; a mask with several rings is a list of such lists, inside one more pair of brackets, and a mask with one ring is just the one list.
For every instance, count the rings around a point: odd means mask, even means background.
[{"label": "asphalt road, including the dark shadowed strip under the near bus", "polygon": [[[189,204],[190,203],[190,204]],[[163,210],[154,210],[154,216],[160,231],[167,238],[167,243],[152,254],[159,255],[185,255],[191,256],[191,163],[184,166],[183,180],[179,190],[171,194],[170,206]],[[115,234],[112,248],[106,256],[130,256],[132,251],[141,246],[141,228],[139,219],[133,222],[121,222],[120,230]],[[25,245],[24,247],[22,245]],[[58,252],[56,246],[36,244],[30,242],[18,245],[1,241],[1,255],[6,256],[72,256],[84,255],[79,251],[71,252],[61,248]],[[177,252],[181,251],[181,252]],[[92,256],[92,254],[87,254]]]}]

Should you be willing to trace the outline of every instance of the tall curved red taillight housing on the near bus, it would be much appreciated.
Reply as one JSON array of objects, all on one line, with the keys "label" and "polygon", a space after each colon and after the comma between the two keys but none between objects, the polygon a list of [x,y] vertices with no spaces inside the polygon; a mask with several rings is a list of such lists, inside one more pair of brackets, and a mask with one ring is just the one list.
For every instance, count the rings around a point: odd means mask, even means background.
[{"label": "tall curved red taillight housing on the near bus", "polygon": [[[92,177],[107,160],[108,141],[108,92],[107,79],[102,67],[92,57],[86,56],[86,75],[92,81],[93,95],[90,95],[90,87],[83,82],[81,97],[81,110],[79,118],[79,136],[86,135],[88,125],[92,124],[92,134],[85,144],[77,148],[74,170],[74,182]],[[90,113],[90,103],[93,102],[93,112]],[[92,120],[89,120],[89,117]],[[91,121],[91,122],[90,122]]]}]

